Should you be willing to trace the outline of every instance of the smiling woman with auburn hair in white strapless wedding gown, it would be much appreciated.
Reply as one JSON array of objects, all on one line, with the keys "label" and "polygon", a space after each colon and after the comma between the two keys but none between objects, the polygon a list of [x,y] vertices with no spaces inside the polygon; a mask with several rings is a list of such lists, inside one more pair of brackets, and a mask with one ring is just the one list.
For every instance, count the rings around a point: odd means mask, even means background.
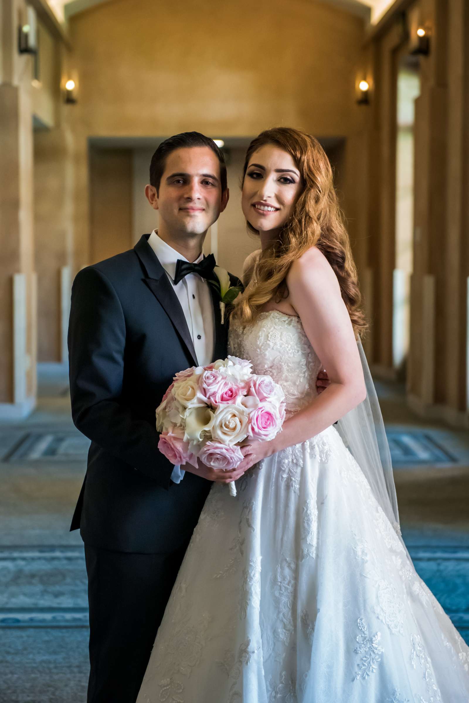
[{"label": "smiling woman with auburn hair in white strapless wedding gown", "polygon": [[316,139],[255,138],[242,204],[262,252],[231,354],[281,384],[287,419],[243,446],[236,498],[212,487],[138,703],[468,703],[469,649],[400,536],[356,269]]}]

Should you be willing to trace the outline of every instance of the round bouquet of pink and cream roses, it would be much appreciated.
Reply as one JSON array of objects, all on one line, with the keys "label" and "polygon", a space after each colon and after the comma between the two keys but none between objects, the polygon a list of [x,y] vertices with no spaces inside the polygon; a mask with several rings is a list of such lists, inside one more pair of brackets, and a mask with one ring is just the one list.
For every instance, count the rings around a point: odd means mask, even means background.
[{"label": "round bouquet of pink and cream roses", "polygon": [[[197,466],[200,458],[227,471],[243,460],[243,439],[274,439],[284,419],[285,396],[278,383],[252,373],[250,361],[228,356],[176,373],[156,411],[158,449],[172,464]],[[234,482],[229,488],[236,496]]]}]

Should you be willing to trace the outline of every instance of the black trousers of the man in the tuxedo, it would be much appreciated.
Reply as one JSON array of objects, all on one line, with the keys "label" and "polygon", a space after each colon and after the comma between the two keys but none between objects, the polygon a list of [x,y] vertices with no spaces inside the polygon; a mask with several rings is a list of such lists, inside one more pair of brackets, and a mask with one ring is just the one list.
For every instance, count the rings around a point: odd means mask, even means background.
[{"label": "black trousers of the man in the tuxedo", "polygon": [[85,545],[91,665],[87,703],[135,703],[186,548],[161,555]]}]

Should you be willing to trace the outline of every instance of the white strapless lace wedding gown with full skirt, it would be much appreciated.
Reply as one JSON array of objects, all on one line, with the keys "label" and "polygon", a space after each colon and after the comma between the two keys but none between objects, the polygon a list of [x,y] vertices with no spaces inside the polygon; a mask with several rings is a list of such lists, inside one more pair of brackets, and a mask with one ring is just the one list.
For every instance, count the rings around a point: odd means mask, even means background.
[{"label": "white strapless lace wedding gown with full skirt", "polygon": [[[262,313],[230,345],[290,413],[316,394],[299,318]],[[137,703],[468,703],[469,649],[335,427],[236,485],[210,491]]]}]

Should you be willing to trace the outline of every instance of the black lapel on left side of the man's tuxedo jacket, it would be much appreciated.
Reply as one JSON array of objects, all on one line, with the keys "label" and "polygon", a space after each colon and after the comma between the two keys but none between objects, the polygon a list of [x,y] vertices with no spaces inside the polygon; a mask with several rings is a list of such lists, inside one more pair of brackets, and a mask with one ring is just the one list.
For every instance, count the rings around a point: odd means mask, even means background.
[{"label": "black lapel on left side of the man's tuxedo jacket", "polygon": [[144,234],[134,247],[134,251],[146,272],[146,276],[143,280],[160,303],[162,309],[165,310],[176,332],[179,334],[179,337],[181,337],[181,341],[185,344],[189,354],[191,354],[194,365],[198,366],[191,333],[189,332],[181,303],[169,282],[165,269],[163,269],[158,261],[158,257],[148,244],[149,236],[150,235]]}]

